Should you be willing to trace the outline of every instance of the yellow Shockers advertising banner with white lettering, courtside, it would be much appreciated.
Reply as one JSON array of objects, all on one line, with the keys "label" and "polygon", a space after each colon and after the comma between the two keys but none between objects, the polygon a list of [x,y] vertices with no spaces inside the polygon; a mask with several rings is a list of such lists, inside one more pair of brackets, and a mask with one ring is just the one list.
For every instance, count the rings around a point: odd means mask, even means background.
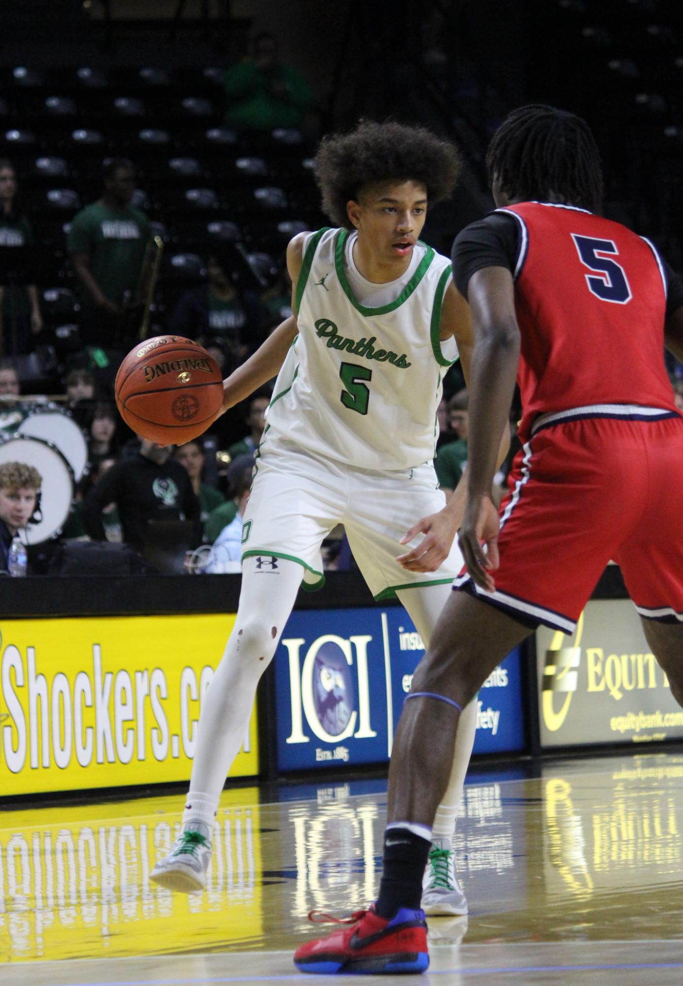
[{"label": "yellow Shockers advertising banner with white lettering, courtside", "polygon": [[[0,797],[188,780],[234,614],[0,621]],[[255,711],[231,777],[258,773]]]}]

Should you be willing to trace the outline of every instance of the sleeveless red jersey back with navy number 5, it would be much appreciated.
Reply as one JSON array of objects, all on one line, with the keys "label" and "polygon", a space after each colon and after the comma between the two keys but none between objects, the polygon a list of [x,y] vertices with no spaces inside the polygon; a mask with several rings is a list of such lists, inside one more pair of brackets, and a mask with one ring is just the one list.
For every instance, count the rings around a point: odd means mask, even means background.
[{"label": "sleeveless red jersey back with navy number 5", "polygon": [[563,205],[523,202],[515,308],[519,435],[539,414],[604,404],[676,412],[663,361],[666,284],[649,241]]}]

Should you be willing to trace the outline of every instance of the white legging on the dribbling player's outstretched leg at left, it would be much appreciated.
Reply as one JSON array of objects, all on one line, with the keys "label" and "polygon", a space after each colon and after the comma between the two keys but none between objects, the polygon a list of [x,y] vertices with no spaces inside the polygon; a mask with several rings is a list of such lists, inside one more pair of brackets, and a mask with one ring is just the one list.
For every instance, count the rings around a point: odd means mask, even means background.
[{"label": "white legging on the dribbling player's outstretched leg at left", "polygon": [[264,575],[255,558],[244,559],[235,627],[202,702],[190,791],[207,799],[209,812],[218,807],[246,735],[256,685],[275,654],[304,569],[279,559],[277,573]]}]

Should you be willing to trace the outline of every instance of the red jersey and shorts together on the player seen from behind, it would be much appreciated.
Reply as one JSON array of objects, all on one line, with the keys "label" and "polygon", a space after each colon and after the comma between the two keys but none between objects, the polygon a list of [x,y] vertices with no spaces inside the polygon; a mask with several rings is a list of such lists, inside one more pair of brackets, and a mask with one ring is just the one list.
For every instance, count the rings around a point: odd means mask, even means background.
[{"label": "red jersey and shorts together on the player seen from behind", "polygon": [[[683,467],[662,358],[680,279],[648,240],[583,208],[523,202],[493,217],[457,238],[455,277],[467,295],[479,271],[506,264],[512,276],[522,450],[501,511],[495,588],[467,572],[455,586],[572,633],[614,560],[642,615],[665,607],[683,619],[680,504],[662,499]],[[494,227],[509,246],[492,264],[496,244],[481,241]]]}]

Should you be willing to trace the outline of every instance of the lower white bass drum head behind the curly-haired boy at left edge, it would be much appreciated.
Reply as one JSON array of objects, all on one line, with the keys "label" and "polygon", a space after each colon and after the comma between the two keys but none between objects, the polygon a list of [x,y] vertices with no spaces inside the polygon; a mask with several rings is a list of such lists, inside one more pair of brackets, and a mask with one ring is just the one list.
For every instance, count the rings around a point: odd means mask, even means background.
[{"label": "lower white bass drum head behind the curly-haired boy at left edge", "polygon": [[64,527],[74,496],[74,473],[61,452],[49,442],[15,435],[0,443],[0,465],[5,462],[25,462],[33,465],[42,478],[40,508],[35,522],[26,528],[22,540],[26,544],[41,544],[54,537]]}]

